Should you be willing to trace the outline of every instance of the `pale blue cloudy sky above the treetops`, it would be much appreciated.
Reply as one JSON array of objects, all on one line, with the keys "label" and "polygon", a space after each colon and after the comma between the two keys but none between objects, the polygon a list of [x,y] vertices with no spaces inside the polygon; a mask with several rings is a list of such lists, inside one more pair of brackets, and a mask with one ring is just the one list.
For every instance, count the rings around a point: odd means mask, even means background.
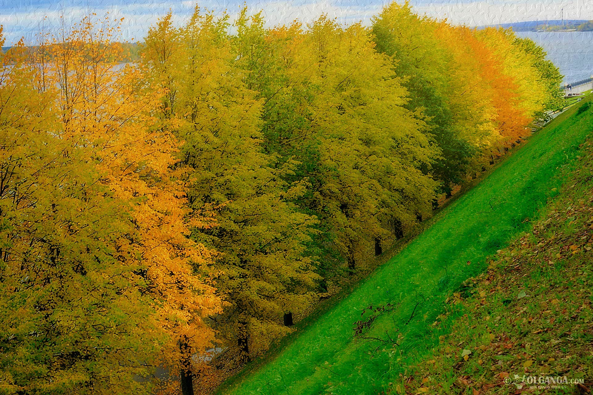
[{"label": "pale blue cloudy sky above the treetops", "polygon": [[[401,0],[403,1],[403,0]],[[368,23],[389,0],[247,0],[250,9],[263,9],[270,25],[299,19],[305,23],[326,13],[342,23]],[[565,18],[593,20],[591,0],[411,0],[416,12],[448,18],[455,24],[471,26],[531,20]],[[195,7],[195,0],[0,0],[0,24],[7,44],[20,37],[30,38],[40,30],[55,27],[60,15],[67,22],[79,20],[89,11],[125,18],[123,38],[141,40],[147,28],[169,9],[181,23]],[[200,7],[231,14],[243,0],[197,0]]]}]

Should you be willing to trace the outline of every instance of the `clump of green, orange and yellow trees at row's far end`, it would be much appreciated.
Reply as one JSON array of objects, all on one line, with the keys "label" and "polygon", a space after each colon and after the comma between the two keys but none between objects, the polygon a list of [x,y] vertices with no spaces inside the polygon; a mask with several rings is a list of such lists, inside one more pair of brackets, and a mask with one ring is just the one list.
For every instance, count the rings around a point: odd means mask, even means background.
[{"label": "clump of green, orange and yellow trees at row's far end", "polygon": [[558,105],[557,68],[510,30],[455,27],[420,17],[406,2],[385,7],[372,31],[378,50],[407,77],[408,107],[422,111],[441,148],[432,174],[447,195],[470,168],[492,164]]}]

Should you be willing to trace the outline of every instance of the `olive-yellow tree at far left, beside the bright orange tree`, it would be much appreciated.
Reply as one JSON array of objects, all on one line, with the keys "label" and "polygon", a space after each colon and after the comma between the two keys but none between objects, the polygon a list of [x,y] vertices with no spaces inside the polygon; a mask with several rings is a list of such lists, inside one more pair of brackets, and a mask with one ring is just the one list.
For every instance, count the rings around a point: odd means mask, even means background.
[{"label": "olive-yellow tree at far left, beside the bright orange tree", "polygon": [[148,393],[134,377],[165,338],[127,256],[130,207],[62,128],[23,41],[1,60],[0,393]]}]

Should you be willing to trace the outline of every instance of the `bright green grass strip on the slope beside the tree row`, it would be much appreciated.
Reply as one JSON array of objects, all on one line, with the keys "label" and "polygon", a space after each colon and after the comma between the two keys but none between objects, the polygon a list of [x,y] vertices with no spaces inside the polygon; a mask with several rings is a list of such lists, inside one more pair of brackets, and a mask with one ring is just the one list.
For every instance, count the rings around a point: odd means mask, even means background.
[{"label": "bright green grass strip on the slope beside the tree row", "polygon": [[[586,101],[586,100],[585,100]],[[349,296],[225,394],[374,394],[451,332],[434,326],[452,291],[487,268],[486,257],[531,226],[554,197],[591,133],[591,110],[571,108],[531,137],[473,190]],[[401,376],[400,376],[401,374]]]}]

